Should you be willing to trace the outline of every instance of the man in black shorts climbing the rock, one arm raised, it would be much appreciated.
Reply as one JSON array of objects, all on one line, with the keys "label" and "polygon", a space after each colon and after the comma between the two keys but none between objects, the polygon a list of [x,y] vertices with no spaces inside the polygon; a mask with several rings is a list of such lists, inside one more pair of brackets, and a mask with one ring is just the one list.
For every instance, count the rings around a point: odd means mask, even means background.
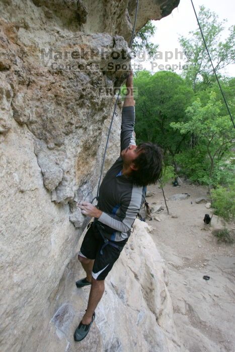
[{"label": "man in black shorts climbing the rock, one arm raised", "polygon": [[81,341],[95,319],[95,309],[105,289],[105,278],[126,244],[131,226],[145,200],[146,186],[161,176],[162,151],[152,143],[138,146],[134,138],[133,73],[126,80],[128,94],[122,109],[121,153],[101,184],[97,207],[81,202],[82,213],[94,217],[84,237],[79,260],[86,278],[76,282],[78,288],[91,285],[86,313],[74,332]]}]

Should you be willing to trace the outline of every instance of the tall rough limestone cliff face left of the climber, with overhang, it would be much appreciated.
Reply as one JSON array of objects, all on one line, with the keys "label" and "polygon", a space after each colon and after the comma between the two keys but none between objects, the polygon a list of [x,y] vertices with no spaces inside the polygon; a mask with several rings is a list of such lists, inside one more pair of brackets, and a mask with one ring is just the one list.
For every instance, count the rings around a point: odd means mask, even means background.
[{"label": "tall rough limestone cliff face left of the climber, with overhang", "polygon": [[[178,3],[140,1],[136,31]],[[55,321],[57,291],[88,222],[77,202],[96,196],[113,90],[125,77],[109,64],[130,62],[135,6],[0,2],[1,351],[53,350],[41,337]],[[119,155],[120,115],[121,101],[106,170]]]}]

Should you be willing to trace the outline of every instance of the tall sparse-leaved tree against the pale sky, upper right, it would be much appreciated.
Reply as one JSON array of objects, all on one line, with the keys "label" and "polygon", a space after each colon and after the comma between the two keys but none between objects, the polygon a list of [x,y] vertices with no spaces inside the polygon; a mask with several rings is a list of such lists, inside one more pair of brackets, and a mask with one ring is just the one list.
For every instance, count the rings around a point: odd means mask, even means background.
[{"label": "tall sparse-leaved tree against the pale sky, upper right", "polygon": [[[215,71],[218,72],[234,62],[235,26],[229,28],[228,37],[222,41],[221,33],[226,20],[219,22],[218,16],[204,6],[200,7],[198,19]],[[190,31],[189,37],[181,36],[179,41],[188,60],[188,68],[184,71],[184,76],[195,90],[200,82],[204,87],[210,85],[214,81],[213,69],[199,28],[196,31]],[[201,84],[199,87],[201,88]]]}]

